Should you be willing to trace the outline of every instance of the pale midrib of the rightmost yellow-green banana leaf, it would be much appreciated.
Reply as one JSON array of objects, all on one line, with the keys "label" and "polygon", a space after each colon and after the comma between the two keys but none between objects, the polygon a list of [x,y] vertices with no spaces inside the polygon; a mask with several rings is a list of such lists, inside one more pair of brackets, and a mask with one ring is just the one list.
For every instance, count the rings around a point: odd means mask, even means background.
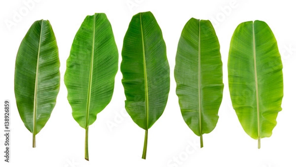
[{"label": "pale midrib of the rightmost yellow-green banana leaf", "polygon": [[257,126],[258,126],[258,139],[260,139],[259,92],[258,92],[258,78],[257,78],[256,43],[255,43],[255,28],[254,28],[254,22],[252,22],[252,26],[253,26],[254,73],[255,73],[256,102],[257,102]]}]

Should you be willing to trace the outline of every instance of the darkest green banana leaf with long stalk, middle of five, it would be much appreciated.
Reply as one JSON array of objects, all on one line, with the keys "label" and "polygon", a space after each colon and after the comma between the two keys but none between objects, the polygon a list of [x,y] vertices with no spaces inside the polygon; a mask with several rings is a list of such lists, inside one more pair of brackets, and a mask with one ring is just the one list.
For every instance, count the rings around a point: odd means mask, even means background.
[{"label": "darkest green banana leaf with long stalk, middle of five", "polygon": [[163,113],[170,89],[166,46],[151,12],[133,16],[123,41],[121,72],[125,109],[146,130],[142,156],[146,159],[148,129]]}]

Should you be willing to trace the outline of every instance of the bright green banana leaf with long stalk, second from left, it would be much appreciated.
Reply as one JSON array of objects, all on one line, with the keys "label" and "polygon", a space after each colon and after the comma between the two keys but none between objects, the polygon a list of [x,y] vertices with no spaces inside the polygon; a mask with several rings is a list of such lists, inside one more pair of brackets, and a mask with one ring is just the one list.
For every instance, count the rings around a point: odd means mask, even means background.
[{"label": "bright green banana leaf with long stalk, second from left", "polygon": [[118,50],[106,14],[87,16],[75,35],[65,73],[72,115],[86,130],[86,160],[88,126],[111,101],[117,70]]}]

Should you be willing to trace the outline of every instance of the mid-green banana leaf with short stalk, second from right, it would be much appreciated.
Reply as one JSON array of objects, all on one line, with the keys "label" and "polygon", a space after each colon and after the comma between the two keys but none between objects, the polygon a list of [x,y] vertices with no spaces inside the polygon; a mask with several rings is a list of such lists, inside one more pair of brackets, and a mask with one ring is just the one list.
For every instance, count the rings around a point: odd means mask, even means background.
[{"label": "mid-green banana leaf with short stalk, second from right", "polygon": [[216,127],[222,101],[222,60],[215,30],[208,20],[191,18],[178,44],[175,80],[182,116],[200,136]]}]

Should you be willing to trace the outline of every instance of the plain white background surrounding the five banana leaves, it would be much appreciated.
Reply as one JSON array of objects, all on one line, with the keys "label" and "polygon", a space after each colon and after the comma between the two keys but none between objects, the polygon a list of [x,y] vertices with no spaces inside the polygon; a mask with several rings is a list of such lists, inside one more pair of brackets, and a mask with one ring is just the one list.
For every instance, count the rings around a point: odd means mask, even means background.
[{"label": "plain white background surrounding the five banana leaves", "polygon": [[[132,16],[151,11],[163,32],[171,69],[171,89],[163,115],[149,129],[147,160],[142,160],[145,131],[124,110],[122,75],[118,71],[111,103],[89,128],[90,161],[84,160],[85,131],[73,119],[64,84],[66,60],[84,18],[104,12],[109,18],[121,62],[121,48]],[[292,0],[22,0],[0,1],[0,103],[11,103],[11,159],[1,167],[296,167],[296,10]],[[191,18],[209,19],[220,40],[224,93],[213,132],[199,137],[185,124],[175,93],[173,69],[181,31]],[[14,98],[14,64],[21,40],[34,21],[49,20],[58,43],[61,87],[52,115],[37,135],[18,114]],[[227,83],[227,56],[234,29],[242,22],[265,21],[273,30],[282,55],[283,110],[270,138],[257,140],[242,129],[232,109]],[[7,25],[7,22],[10,25]],[[2,105],[1,105],[2,106]],[[4,128],[1,109],[0,127]],[[113,126],[111,126],[113,125]],[[1,132],[2,134],[2,132]],[[4,136],[0,136],[3,157]]]}]

